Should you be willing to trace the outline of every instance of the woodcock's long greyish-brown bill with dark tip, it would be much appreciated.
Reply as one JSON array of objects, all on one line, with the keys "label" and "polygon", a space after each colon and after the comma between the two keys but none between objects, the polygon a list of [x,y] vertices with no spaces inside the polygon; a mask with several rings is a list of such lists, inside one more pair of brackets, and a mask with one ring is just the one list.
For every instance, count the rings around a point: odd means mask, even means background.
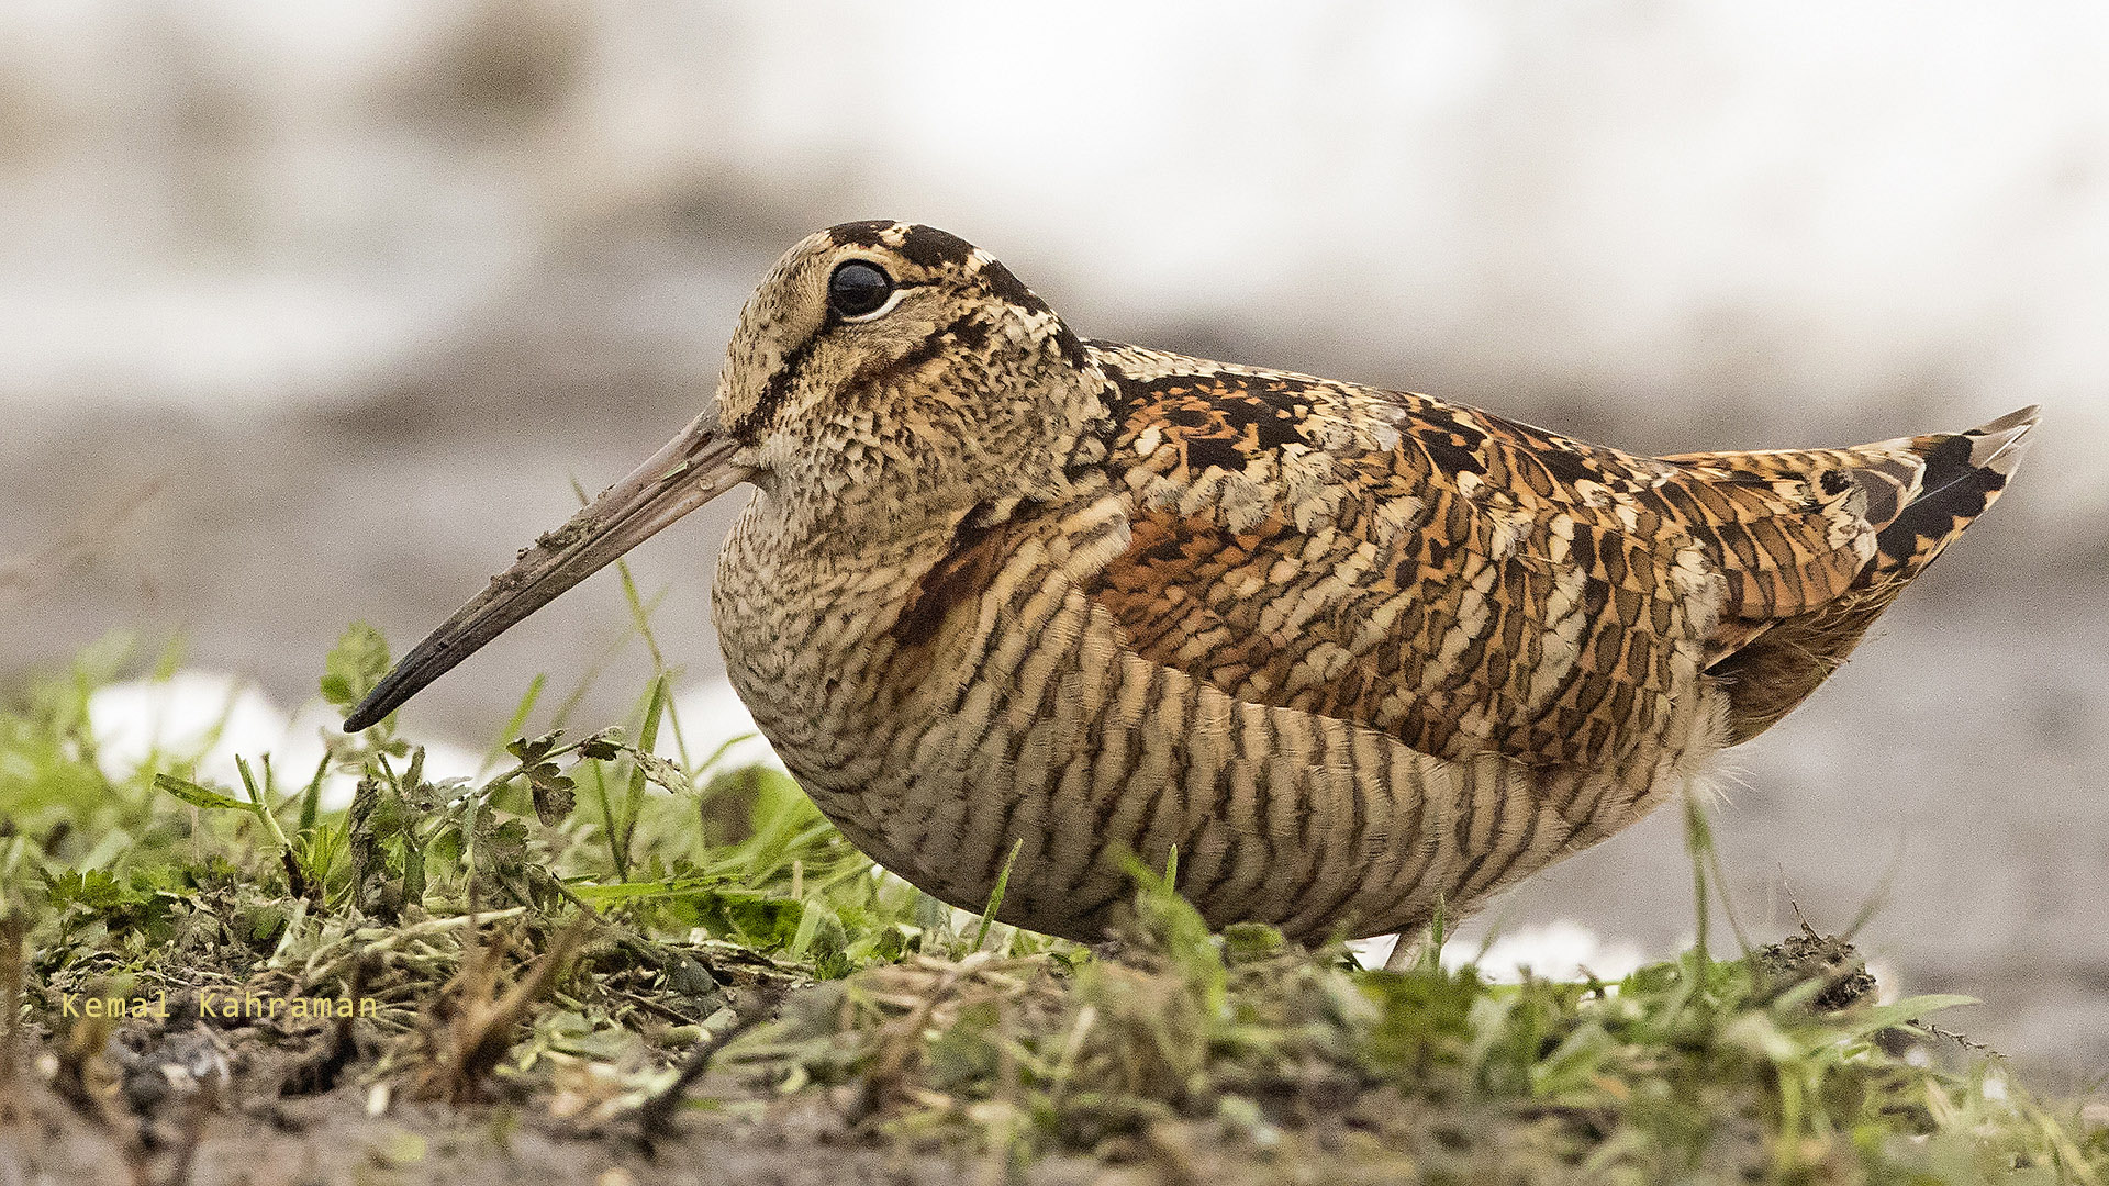
[{"label": "woodcock's long greyish-brown bill with dark tip", "polygon": [[392,713],[426,684],[475,654],[540,610],[565,589],[593,576],[622,553],[645,542],[660,528],[688,515],[747,479],[747,466],[732,460],[736,441],[717,431],[717,414],[704,412],[666,447],[610,485],[569,523],[548,532],[523,551],[504,574],[394,665],[373,692],[344,718],[346,732],[359,732]]}]

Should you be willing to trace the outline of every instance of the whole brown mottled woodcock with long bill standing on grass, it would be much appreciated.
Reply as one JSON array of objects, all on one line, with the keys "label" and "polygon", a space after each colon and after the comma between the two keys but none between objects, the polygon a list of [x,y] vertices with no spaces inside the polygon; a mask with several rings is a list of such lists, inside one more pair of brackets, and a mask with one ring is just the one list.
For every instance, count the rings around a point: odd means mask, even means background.
[{"label": "whole brown mottled woodcock with long bill standing on grass", "polygon": [[888,869],[1103,935],[1415,926],[1641,819],[1803,701],[2006,487],[2035,409],[1643,458],[1474,407],[1078,338],[854,222],[747,302],[717,399],[426,637],[367,728],[736,483],[725,669]]}]

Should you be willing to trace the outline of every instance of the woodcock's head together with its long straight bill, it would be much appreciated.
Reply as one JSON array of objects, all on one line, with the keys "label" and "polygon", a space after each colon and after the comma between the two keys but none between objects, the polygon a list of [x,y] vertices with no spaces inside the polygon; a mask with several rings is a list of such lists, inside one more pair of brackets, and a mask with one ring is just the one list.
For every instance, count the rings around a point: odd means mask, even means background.
[{"label": "woodcock's head together with its long straight bill", "polygon": [[774,513],[854,547],[1052,498],[1103,458],[1105,376],[987,251],[850,222],[785,253],[749,298],[711,405],[420,642],[352,711],[367,728],[660,528],[753,481]]}]

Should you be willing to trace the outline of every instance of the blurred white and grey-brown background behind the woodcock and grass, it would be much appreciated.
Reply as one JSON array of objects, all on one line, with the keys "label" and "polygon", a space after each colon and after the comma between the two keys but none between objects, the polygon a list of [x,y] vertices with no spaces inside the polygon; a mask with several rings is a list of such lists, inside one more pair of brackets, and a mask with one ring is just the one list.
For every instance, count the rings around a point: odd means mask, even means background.
[{"label": "blurred white and grey-brown background behind the woodcock and grass", "polygon": [[[1645,449],[2046,424],[1715,812],[1951,1026],[2109,1072],[2109,8],[1700,0],[0,6],[0,696],[124,631],[293,713],[688,420],[808,230],[945,226],[1086,336]],[[738,502],[738,498],[728,500]],[[635,553],[696,715],[707,576]],[[650,673],[601,576],[439,682]],[[221,684],[226,686],[226,684]],[[542,715],[546,715],[544,709]],[[312,730],[312,709],[304,715]],[[1664,812],[1481,920],[1666,954]],[[1719,933],[1717,933],[1719,935]],[[1717,939],[1719,941],[1719,939]]]}]

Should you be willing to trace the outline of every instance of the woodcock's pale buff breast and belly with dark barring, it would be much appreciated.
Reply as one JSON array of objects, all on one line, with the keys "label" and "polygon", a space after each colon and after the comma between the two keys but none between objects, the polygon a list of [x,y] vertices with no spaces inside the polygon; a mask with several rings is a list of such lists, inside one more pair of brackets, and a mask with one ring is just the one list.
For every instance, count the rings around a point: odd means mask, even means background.
[{"label": "woodcock's pale buff breast and belly with dark barring", "polygon": [[[1468,907],[1679,781],[1438,758],[1137,654],[1082,580],[1128,544],[1118,500],[1038,534],[941,534],[844,555],[751,511],[713,614],[734,688],[820,810],[953,905],[979,910],[1008,863],[1000,918],[1092,939],[1133,893],[1128,861],[1177,853],[1213,924],[1377,933]],[[903,629],[934,595],[936,625]]]}]

